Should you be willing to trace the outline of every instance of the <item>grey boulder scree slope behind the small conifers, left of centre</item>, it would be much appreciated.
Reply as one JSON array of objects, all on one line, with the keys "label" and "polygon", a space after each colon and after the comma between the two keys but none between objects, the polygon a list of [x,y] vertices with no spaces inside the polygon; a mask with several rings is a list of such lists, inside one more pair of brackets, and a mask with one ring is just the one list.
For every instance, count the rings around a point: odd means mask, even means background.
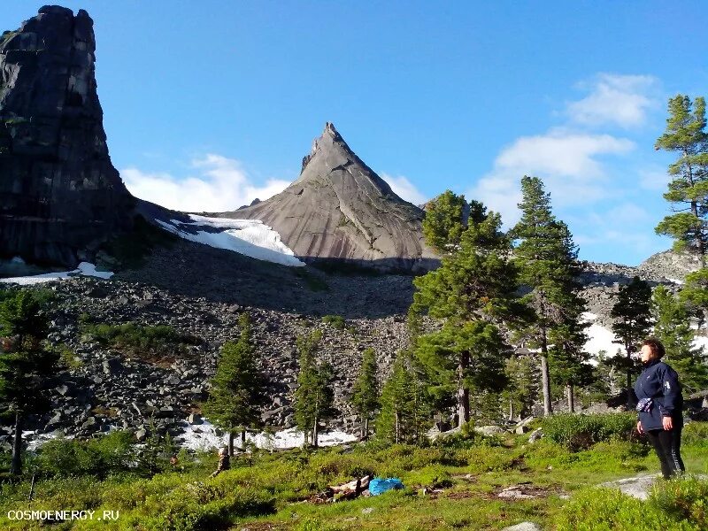
[{"label": "grey boulder scree slope behind the small conifers, left of centre", "polygon": [[[69,347],[73,354],[68,356],[75,358],[72,367],[51,382],[51,412],[34,420],[38,435],[62,432],[87,436],[113,428],[140,432],[151,422],[159,431],[176,435],[181,419],[199,412],[221,346],[239,336],[242,312],[250,316],[253,341],[268,381],[264,421],[274,427],[293,426],[296,338],[320,329],[319,355],[335,370],[339,414],[332,425],[353,431],[355,418],[348,398],[361,351],[367,347],[376,350],[384,375],[396,351],[408,342],[404,316],[347,319],[343,327],[335,327],[319,316],[180,296],[135,282],[75,278],[53,283],[50,289],[57,296],[50,341]],[[136,356],[98,342],[86,327],[86,323],[127,322],[169,325],[196,341],[176,355]],[[10,429],[0,427],[0,443],[9,443]]]}]

